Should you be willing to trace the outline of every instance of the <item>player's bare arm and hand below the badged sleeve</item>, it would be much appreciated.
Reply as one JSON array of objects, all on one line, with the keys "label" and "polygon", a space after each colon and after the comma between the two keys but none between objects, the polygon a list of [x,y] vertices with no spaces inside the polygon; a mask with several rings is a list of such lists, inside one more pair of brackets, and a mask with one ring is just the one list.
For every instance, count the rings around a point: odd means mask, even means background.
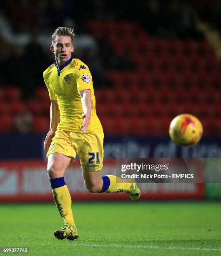
[{"label": "player's bare arm and hand below the badged sleeve", "polygon": [[90,115],[91,115],[91,108],[92,108],[90,90],[88,89],[81,90],[79,94],[80,94],[81,103],[82,103],[83,112],[84,112],[82,114],[82,118],[84,119],[84,121],[83,121],[83,124],[80,126],[80,130],[86,133],[89,122],[90,122]]}]

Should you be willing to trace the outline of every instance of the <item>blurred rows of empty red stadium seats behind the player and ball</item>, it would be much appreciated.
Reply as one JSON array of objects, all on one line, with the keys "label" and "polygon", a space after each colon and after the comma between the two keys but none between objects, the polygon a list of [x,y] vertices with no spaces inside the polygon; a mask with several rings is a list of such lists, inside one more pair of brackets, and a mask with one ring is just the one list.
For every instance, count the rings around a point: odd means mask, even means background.
[{"label": "blurred rows of empty red stadium seats behind the player and ball", "polygon": [[[88,33],[100,48],[103,44],[112,51],[100,57],[104,67],[112,63],[105,71],[105,79],[112,86],[96,88],[94,81],[96,109],[106,134],[164,135],[175,115],[191,113],[201,119],[204,134],[221,135],[221,96],[217,93],[221,61],[208,40],[198,36],[199,32],[192,38],[189,34],[179,38],[176,33],[171,38],[156,37],[139,19],[90,18]],[[28,79],[31,82],[30,75]],[[13,131],[13,119],[25,112],[33,115],[31,131],[48,131],[48,91],[42,83],[30,89],[33,94],[26,97],[27,88],[1,85],[1,132]]]}]

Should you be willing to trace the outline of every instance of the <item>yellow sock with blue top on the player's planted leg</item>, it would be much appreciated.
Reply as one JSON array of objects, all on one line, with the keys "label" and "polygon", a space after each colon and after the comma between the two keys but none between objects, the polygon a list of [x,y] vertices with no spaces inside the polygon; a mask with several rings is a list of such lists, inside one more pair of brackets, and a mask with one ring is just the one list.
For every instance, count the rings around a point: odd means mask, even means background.
[{"label": "yellow sock with blue top on the player's planted leg", "polygon": [[56,206],[58,207],[58,211],[60,212],[60,216],[63,217],[65,224],[69,223],[70,225],[74,225],[73,214],[71,210],[71,197],[68,191],[68,187],[65,184],[64,178],[55,178],[50,179],[53,198]]}]

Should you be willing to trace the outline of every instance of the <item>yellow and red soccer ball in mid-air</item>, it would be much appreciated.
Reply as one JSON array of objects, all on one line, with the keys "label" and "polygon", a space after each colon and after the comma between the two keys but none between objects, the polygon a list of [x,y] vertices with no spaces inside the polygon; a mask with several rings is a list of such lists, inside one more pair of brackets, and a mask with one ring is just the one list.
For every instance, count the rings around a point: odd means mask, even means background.
[{"label": "yellow and red soccer ball in mid-air", "polygon": [[178,145],[191,146],[200,141],[203,125],[194,115],[181,114],[171,121],[169,134]]}]

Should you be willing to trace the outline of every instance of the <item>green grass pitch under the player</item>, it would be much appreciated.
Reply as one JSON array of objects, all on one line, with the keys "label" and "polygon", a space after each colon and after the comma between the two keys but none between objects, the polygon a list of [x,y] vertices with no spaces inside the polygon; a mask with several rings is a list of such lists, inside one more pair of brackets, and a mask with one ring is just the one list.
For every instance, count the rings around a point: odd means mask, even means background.
[{"label": "green grass pitch under the player", "polygon": [[53,203],[1,205],[0,247],[28,247],[28,255],[221,255],[221,202],[73,202],[72,209],[79,240],[58,241],[63,219]]}]

